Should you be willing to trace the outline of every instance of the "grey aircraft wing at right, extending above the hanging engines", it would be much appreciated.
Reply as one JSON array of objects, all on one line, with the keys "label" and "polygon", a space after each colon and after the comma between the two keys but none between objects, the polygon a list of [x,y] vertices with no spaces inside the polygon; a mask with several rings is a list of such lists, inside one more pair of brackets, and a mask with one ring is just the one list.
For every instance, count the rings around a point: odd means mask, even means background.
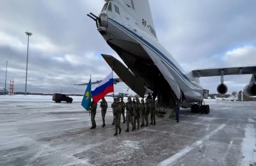
[{"label": "grey aircraft wing at right, extending above the hanging engines", "polygon": [[221,71],[224,75],[255,74],[256,66],[197,69],[192,74],[194,77],[212,77],[221,76]]}]

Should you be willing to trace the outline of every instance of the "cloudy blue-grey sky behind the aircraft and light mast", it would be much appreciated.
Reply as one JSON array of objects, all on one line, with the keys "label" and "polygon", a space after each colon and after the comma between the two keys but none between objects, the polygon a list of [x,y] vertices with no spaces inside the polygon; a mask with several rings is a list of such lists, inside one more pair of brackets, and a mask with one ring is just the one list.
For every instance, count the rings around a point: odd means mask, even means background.
[{"label": "cloudy blue-grey sky behind the aircraft and light mast", "polygon": [[[198,68],[256,66],[255,0],[149,0],[159,42],[185,71]],[[111,72],[100,54],[117,54],[86,16],[98,15],[104,0],[1,0],[0,87],[14,77],[15,91],[84,93],[87,83]],[[114,76],[116,76],[114,74]],[[226,76],[228,93],[242,90],[250,75]],[[220,77],[200,78],[216,93]],[[124,83],[115,92],[126,92]],[[132,93],[129,91],[129,93]]]}]

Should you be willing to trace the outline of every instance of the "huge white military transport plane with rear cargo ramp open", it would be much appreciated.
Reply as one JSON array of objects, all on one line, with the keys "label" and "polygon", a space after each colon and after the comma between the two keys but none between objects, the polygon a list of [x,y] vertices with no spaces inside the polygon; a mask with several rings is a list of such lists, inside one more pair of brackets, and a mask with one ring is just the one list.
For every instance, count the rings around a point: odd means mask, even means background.
[{"label": "huge white military transport plane with rear cargo ramp open", "polygon": [[[217,91],[225,94],[224,75],[252,74],[244,94],[256,95],[256,66],[198,69],[185,73],[179,63],[158,42],[149,0],[105,0],[98,16],[87,14],[96,22],[97,30],[107,44],[117,52],[128,66],[125,67],[111,55],[102,57],[119,76],[115,82],[123,81],[135,93],[144,98],[147,89],[158,94],[161,103],[169,102],[170,93],[191,112],[208,114],[209,105],[204,104],[209,90],[199,84],[200,77],[221,76]],[[97,82],[98,83],[98,82]],[[174,102],[171,102],[174,103]]]}]

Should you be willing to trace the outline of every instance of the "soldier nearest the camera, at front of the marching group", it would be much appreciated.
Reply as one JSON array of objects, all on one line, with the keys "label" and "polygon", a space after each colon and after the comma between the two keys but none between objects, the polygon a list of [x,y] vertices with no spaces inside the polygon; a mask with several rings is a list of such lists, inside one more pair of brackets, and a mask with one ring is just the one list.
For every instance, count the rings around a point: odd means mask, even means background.
[{"label": "soldier nearest the camera, at front of the marching group", "polygon": [[120,127],[120,120],[121,120],[121,115],[122,115],[122,110],[123,110],[123,104],[120,103],[120,98],[117,97],[115,107],[114,107],[114,123],[115,123],[115,133],[114,135],[117,135],[117,129],[119,129],[119,134],[121,134],[121,127]]}]

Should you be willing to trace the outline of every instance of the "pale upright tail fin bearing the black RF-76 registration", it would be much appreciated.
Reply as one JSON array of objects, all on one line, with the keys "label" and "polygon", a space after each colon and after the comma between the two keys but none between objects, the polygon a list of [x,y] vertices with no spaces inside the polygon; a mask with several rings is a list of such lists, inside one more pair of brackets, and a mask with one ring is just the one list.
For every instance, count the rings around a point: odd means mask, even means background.
[{"label": "pale upright tail fin bearing the black RF-76 registration", "polygon": [[135,10],[140,29],[157,40],[157,33],[149,5],[149,0],[123,0]]}]

